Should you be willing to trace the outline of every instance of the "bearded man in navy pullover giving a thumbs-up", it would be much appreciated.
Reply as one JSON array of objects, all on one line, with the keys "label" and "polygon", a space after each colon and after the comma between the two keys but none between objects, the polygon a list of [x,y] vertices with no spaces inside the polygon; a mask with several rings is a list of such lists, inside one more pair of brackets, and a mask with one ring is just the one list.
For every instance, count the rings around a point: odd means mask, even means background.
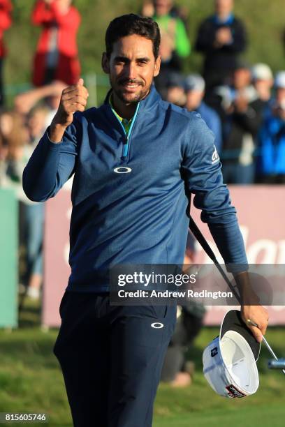
[{"label": "bearded man in navy pullover giving a thumbs-up", "polygon": [[[182,264],[191,193],[225,262],[244,266],[247,257],[212,133],[196,113],[163,102],[152,84],[160,66],[156,22],[117,17],[105,42],[112,88],[105,103],[84,111],[83,81],[64,89],[23,185],[43,201],[74,173],[71,276],[54,345],[74,426],[150,427],[175,305],[110,304],[108,268]],[[231,271],[246,298],[247,272]],[[261,340],[265,309],[244,304],[242,316],[258,324],[251,330]]]}]

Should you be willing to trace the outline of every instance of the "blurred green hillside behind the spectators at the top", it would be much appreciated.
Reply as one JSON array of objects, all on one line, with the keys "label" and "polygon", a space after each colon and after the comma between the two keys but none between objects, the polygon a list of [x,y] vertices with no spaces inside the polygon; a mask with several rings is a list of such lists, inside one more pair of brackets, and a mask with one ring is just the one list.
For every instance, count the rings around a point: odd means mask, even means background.
[{"label": "blurred green hillside behind the spectators at the top", "polygon": [[[39,27],[31,24],[31,11],[34,0],[13,1],[13,25],[4,33],[8,57],[6,58],[5,75],[7,91],[15,94],[21,84],[31,82],[31,63],[34,57]],[[200,23],[213,13],[212,0],[181,0],[175,5],[181,6],[187,24],[189,40],[194,45]],[[101,70],[101,53],[104,46],[105,29],[117,15],[140,13],[143,1],[139,0],[75,0],[74,6],[82,15],[78,31],[79,57],[82,74],[103,75]],[[235,1],[235,14],[247,27],[249,45],[244,57],[249,63],[265,62],[272,70],[284,68],[284,15],[282,0],[238,0]],[[199,72],[203,57],[192,50],[184,59],[184,72]],[[108,82],[108,79],[105,81]],[[20,89],[22,89],[20,87]],[[11,93],[11,94],[13,94]],[[103,97],[101,97],[102,100]]]}]

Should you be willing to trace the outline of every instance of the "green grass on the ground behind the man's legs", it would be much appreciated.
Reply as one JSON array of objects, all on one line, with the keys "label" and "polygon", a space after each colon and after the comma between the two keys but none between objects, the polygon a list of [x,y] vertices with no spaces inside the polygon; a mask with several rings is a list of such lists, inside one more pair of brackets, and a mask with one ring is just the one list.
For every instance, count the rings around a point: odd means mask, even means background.
[{"label": "green grass on the ground behind the man's legs", "polygon": [[[196,373],[190,387],[171,389],[160,385],[154,427],[259,427],[261,423],[263,427],[284,426],[285,378],[280,371],[268,370],[270,355],[265,348],[258,360],[260,387],[254,396],[230,400],[210,389],[201,371],[201,354],[217,334],[217,328],[204,328],[198,336],[191,351]],[[49,426],[72,427],[64,380],[52,353],[56,337],[57,330],[41,331],[39,309],[31,301],[24,304],[20,329],[0,331],[0,412],[45,412]],[[277,355],[284,356],[284,330],[269,329],[267,338]]]}]

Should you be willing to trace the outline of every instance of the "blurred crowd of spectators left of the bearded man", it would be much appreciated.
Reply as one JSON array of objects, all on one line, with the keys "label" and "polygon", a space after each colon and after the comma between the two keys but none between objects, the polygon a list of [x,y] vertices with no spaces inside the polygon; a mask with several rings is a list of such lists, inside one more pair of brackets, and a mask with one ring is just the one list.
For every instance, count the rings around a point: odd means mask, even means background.
[{"label": "blurred crowd of spectators left of the bearded man", "polygon": [[52,121],[61,91],[80,77],[76,35],[81,18],[72,0],[35,1],[31,22],[41,27],[41,33],[31,66],[33,89],[16,96],[13,108],[6,110],[3,31],[12,23],[11,12],[10,0],[0,0],[0,188],[13,188],[18,201],[20,290],[38,299],[43,282],[45,209],[24,194],[22,172]]}]

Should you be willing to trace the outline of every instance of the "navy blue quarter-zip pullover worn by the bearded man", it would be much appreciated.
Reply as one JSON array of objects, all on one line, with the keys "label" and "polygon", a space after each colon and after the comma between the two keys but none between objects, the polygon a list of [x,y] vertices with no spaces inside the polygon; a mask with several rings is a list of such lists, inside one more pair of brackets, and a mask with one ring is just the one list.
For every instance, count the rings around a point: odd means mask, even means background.
[{"label": "navy blue quarter-zip pullover worn by the bearded man", "polygon": [[108,99],[75,113],[59,144],[47,130],[24,170],[24,191],[43,202],[73,173],[68,290],[108,291],[115,264],[182,264],[191,193],[226,264],[247,264],[212,132],[154,86],[128,135]]}]

